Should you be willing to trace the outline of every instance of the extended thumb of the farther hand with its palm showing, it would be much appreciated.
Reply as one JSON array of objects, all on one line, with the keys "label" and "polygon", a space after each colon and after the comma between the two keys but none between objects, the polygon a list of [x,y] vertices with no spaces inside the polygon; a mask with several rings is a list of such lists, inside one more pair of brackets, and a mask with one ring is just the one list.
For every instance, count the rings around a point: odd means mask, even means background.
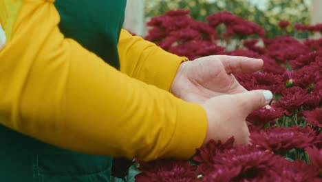
[{"label": "extended thumb of the farther hand with its palm showing", "polygon": [[222,61],[224,68],[228,74],[230,73],[252,73],[263,67],[264,62],[262,59],[254,59],[248,57],[235,57],[235,56],[215,56]]}]

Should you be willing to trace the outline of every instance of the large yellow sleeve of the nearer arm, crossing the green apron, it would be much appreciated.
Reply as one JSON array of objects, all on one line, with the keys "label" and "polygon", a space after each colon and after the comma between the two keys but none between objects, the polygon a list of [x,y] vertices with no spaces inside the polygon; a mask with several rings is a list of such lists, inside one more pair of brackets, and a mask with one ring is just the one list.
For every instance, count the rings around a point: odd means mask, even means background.
[{"label": "large yellow sleeve of the nearer arm, crossing the green apron", "polygon": [[91,154],[151,160],[195,153],[207,127],[200,105],[112,68],[64,39],[58,21],[50,1],[23,1],[0,50],[3,125]]}]

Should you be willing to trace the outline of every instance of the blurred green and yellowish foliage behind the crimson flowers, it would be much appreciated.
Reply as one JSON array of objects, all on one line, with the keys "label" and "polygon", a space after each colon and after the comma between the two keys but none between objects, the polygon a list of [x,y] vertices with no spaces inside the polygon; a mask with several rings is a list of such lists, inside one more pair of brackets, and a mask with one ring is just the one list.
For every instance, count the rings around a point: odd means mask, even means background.
[{"label": "blurred green and yellowish foliage behind the crimson flowers", "polygon": [[[308,32],[294,31],[294,23],[310,23],[310,0],[268,0],[261,1],[264,7],[259,8],[250,0],[144,0],[147,17],[156,17],[169,10],[189,9],[191,17],[197,21],[206,21],[209,15],[227,10],[253,21],[266,31],[266,37],[290,34],[299,39],[308,37]],[[281,30],[279,21],[290,21],[290,26]]]}]

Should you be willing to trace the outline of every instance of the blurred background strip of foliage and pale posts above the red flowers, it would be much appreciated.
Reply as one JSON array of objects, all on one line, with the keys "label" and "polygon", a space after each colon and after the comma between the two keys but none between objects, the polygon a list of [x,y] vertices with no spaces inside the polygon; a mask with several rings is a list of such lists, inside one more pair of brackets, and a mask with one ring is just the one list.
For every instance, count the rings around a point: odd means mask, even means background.
[{"label": "blurred background strip of foliage and pale posts above the red flowers", "polygon": [[[294,0],[291,2],[288,0],[128,0],[124,27],[144,36],[149,29],[146,22],[151,17],[160,16],[175,9],[189,9],[191,17],[197,21],[205,21],[208,15],[227,10],[263,27],[267,37],[274,37],[281,33],[277,26],[279,21],[305,25],[322,22],[322,12],[319,10],[322,1]],[[319,36],[309,35],[307,32],[296,33],[292,26],[289,26],[286,31],[299,39]]]}]

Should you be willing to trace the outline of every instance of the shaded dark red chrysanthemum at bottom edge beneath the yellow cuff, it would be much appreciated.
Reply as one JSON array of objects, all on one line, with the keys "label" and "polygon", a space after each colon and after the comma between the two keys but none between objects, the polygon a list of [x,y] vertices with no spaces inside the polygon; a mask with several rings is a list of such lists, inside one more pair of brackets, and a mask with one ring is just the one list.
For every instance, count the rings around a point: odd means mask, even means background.
[{"label": "shaded dark red chrysanthemum at bottom edge beneath the yellow cuff", "polygon": [[157,181],[196,181],[196,165],[190,165],[189,161],[152,161],[140,163],[140,174],[136,175],[139,182]]}]

